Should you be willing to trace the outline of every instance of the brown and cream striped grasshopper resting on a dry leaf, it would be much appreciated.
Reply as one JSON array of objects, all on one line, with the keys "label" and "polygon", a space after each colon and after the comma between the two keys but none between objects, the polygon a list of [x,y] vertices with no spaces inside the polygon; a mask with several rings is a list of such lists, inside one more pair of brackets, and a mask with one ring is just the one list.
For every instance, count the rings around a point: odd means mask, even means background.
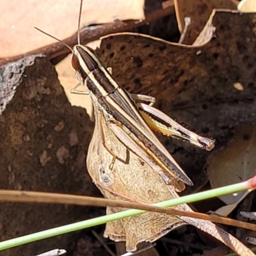
[{"label": "brown and cream striped grasshopper resting on a dry leaf", "polygon": [[[141,161],[147,163],[156,172],[164,173],[162,178],[166,184],[193,186],[191,179],[164,148],[152,130],[173,138],[180,138],[205,150],[212,150],[214,141],[189,131],[154,108],[152,106],[156,101],[154,97],[128,93],[120,84],[116,83],[111,76],[111,68],[105,68],[90,47],[80,44],[79,27],[82,3],[83,0],[81,0],[79,11],[77,45],[74,46],[74,49],[66,45],[73,53],[72,67],[79,81],[79,84],[71,92],[89,94],[92,98],[95,116],[99,116],[99,123],[102,124],[102,121],[105,120],[108,129],[127,149],[140,157]],[[55,39],[58,40],[58,38]],[[79,85],[85,86],[86,90],[77,90]],[[100,127],[100,140],[103,145],[106,145],[104,129],[102,129],[102,125]],[[111,161],[111,168],[113,168],[118,156],[113,154],[110,148],[107,150],[113,155]]]}]

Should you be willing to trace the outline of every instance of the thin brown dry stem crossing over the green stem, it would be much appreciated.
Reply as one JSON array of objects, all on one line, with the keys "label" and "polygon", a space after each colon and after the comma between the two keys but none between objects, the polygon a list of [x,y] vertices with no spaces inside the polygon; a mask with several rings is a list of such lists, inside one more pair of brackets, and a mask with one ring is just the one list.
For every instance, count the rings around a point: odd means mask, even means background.
[{"label": "thin brown dry stem crossing over the green stem", "polygon": [[197,218],[201,220],[209,220],[216,223],[230,225],[234,227],[242,227],[256,231],[256,225],[252,223],[246,223],[244,221],[232,220],[230,218],[224,218],[220,216],[209,216],[198,212],[186,212],[176,209],[157,207],[147,204],[137,204],[132,202],[124,202],[117,200],[110,200],[104,198],[96,198],[92,196],[77,196],[67,195],[59,193],[44,193],[34,191],[15,191],[0,189],[0,201],[1,202],[33,202],[33,203],[48,203],[48,204],[72,204],[72,205],[92,205],[100,207],[123,207],[129,209],[140,209],[152,212],[162,212],[166,214],[172,214],[177,216],[187,216],[191,218]]}]

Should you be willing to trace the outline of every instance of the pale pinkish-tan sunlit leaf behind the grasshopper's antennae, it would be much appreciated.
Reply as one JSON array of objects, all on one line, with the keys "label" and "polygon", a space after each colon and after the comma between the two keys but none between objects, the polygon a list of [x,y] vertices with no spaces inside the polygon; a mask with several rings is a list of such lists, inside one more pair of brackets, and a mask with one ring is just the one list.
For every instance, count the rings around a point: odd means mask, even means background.
[{"label": "pale pinkish-tan sunlit leaf behind the grasshopper's antennae", "polygon": [[[1,1],[0,58],[32,51],[56,40],[36,31],[64,39],[77,30],[80,1]],[[84,0],[81,25],[144,19],[144,0]],[[3,22],[4,20],[4,22]]]}]

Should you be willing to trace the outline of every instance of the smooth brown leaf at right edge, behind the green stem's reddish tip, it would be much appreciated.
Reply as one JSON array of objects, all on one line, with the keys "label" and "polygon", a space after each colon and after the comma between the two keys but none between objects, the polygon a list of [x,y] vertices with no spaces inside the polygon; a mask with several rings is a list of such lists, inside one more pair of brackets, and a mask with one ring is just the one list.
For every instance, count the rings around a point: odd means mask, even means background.
[{"label": "smooth brown leaf at right edge, behind the green stem's reddish tip", "polygon": [[[234,131],[234,139],[227,148],[209,157],[207,172],[212,188],[220,188],[251,178],[256,172],[256,126],[247,125]],[[246,191],[221,196],[225,204],[235,204]]]}]

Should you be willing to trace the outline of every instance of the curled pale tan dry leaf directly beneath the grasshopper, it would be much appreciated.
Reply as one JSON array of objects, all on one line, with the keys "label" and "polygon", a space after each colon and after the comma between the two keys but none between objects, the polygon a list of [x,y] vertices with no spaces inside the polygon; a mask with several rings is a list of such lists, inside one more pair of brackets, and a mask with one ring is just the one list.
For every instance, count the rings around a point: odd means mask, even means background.
[{"label": "curled pale tan dry leaf directly beneath the grasshopper", "polygon": [[[109,129],[109,123],[95,108],[95,129],[88,148],[86,164],[93,182],[105,198],[153,204],[179,197],[175,186],[164,182],[166,173],[156,172],[140,157],[129,151]],[[99,140],[104,132],[104,141]],[[110,153],[111,152],[111,153]],[[113,156],[116,156],[112,167]],[[169,177],[170,178],[170,177]],[[188,205],[173,207],[181,211],[192,211]],[[124,211],[124,208],[107,207],[107,214]],[[106,224],[105,237],[113,241],[125,241],[126,250],[134,252],[138,244],[154,242],[174,228],[191,224],[219,239],[239,255],[251,255],[237,239],[210,221],[159,212],[146,212],[140,216],[111,221]]]}]

